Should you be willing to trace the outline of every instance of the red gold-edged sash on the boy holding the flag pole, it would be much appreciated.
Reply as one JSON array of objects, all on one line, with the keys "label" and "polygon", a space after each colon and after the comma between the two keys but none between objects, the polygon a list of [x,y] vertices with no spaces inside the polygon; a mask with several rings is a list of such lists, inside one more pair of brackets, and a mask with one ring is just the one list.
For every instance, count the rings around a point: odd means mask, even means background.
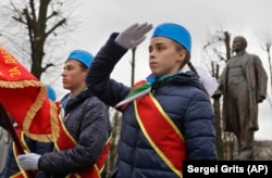
[{"label": "red gold-edged sash on the boy holding the flag pole", "polygon": [[[57,150],[67,150],[73,149],[76,145],[76,140],[69,134],[66,127],[64,126],[61,117],[59,117],[60,135],[55,141]],[[102,153],[100,154],[96,164],[94,164],[89,169],[81,170],[78,173],[69,174],[65,178],[100,178],[100,173],[104,168],[104,164],[108,158],[108,152],[110,149],[110,139],[108,139]]]}]

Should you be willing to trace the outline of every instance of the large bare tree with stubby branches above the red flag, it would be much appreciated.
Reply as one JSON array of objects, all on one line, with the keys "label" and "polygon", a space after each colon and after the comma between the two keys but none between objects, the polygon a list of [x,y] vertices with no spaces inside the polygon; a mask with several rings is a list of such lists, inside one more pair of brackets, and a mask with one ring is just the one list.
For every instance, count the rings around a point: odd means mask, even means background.
[{"label": "large bare tree with stubby branches above the red flag", "polygon": [[[64,0],[5,0],[1,7],[2,43],[12,43],[20,58],[29,59],[29,71],[38,79],[55,60],[44,62],[46,52],[59,46],[58,35],[65,33],[71,4]],[[55,42],[55,44],[53,44]],[[12,51],[12,50],[11,50]]]}]

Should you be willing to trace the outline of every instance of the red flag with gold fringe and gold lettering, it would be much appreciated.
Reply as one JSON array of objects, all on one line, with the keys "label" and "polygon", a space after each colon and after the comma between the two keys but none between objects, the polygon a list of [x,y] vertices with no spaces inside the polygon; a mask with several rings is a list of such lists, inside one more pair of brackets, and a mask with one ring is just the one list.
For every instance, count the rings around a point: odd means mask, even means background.
[{"label": "red flag with gold fringe and gold lettering", "polygon": [[48,99],[46,86],[2,47],[0,103],[32,139],[48,142],[58,137],[59,111]]}]

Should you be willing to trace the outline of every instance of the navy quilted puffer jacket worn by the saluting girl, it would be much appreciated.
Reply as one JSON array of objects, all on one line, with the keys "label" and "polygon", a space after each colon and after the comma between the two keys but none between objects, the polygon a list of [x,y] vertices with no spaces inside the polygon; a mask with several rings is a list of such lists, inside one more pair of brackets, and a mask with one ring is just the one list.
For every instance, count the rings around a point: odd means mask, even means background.
[{"label": "navy quilted puffer jacket worn by the saluting girl", "polygon": [[[110,79],[115,64],[126,52],[114,42],[116,35],[113,34],[98,52],[86,78],[87,86],[91,86],[94,92],[112,106],[131,90]],[[195,73],[178,73],[171,80],[152,88],[152,93],[184,136],[187,160],[217,160],[214,114],[210,99],[202,91]],[[119,158],[113,177],[177,177],[145,138],[136,120],[133,103],[122,112]],[[157,129],[156,125],[153,129]]]}]

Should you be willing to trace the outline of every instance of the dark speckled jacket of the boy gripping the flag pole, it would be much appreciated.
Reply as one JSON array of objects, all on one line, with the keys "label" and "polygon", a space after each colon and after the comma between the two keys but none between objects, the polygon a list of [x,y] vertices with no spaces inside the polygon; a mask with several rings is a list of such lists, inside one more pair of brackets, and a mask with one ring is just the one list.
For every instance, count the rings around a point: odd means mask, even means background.
[{"label": "dark speckled jacket of the boy gripping the flag pole", "polygon": [[84,90],[65,105],[64,125],[77,141],[74,149],[46,153],[38,167],[54,178],[90,168],[100,155],[110,135],[108,106],[90,90]]}]

